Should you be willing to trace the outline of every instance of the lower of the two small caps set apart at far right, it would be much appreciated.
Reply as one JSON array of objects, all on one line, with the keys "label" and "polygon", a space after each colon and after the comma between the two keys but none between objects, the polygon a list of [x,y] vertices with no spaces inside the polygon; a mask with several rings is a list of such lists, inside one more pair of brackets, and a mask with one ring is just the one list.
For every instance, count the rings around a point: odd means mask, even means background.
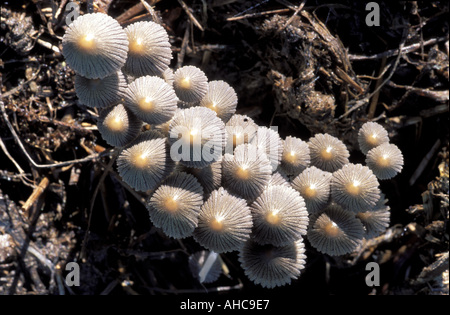
[{"label": "lower of the two small caps set apart at far right", "polygon": [[378,179],[391,179],[402,171],[402,151],[395,144],[382,143],[367,152],[366,165]]}]

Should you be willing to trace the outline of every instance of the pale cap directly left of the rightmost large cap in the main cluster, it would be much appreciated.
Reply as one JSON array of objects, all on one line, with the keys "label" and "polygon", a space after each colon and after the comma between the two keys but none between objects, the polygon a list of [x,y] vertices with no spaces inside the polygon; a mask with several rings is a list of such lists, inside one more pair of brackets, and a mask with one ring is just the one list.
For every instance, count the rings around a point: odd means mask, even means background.
[{"label": "pale cap directly left of the rightmost large cap in the main cluster", "polygon": [[310,166],[292,180],[291,186],[303,197],[309,213],[319,212],[328,204],[331,176],[330,172]]}]

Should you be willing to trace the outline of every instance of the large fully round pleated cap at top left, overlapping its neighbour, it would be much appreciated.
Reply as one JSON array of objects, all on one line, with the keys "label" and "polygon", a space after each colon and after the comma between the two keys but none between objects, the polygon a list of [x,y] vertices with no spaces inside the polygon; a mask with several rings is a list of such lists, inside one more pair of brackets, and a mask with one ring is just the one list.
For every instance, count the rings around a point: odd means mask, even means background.
[{"label": "large fully round pleated cap at top left, overlapping its neighbour", "polygon": [[102,79],[122,68],[128,39],[120,24],[107,14],[79,16],[67,28],[63,40],[67,64],[88,79]]}]

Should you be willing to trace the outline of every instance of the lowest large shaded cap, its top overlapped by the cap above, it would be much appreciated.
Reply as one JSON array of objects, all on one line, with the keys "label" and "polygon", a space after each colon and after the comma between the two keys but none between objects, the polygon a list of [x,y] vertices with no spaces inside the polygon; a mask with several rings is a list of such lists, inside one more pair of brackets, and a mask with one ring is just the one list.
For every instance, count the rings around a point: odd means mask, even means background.
[{"label": "lowest large shaded cap, its top overlapped by the cap above", "polygon": [[246,276],[263,288],[288,285],[305,268],[305,245],[302,239],[280,247],[250,240],[239,252],[239,262]]}]

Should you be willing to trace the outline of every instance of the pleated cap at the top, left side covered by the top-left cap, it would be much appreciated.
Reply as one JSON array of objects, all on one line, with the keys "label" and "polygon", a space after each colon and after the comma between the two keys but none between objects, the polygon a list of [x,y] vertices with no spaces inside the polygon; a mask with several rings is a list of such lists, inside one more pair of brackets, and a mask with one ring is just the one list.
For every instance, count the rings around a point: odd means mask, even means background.
[{"label": "pleated cap at the top, left side covered by the top-left cap", "polygon": [[125,28],[129,41],[124,72],[135,77],[161,76],[172,59],[169,35],[152,21],[135,22]]}]

